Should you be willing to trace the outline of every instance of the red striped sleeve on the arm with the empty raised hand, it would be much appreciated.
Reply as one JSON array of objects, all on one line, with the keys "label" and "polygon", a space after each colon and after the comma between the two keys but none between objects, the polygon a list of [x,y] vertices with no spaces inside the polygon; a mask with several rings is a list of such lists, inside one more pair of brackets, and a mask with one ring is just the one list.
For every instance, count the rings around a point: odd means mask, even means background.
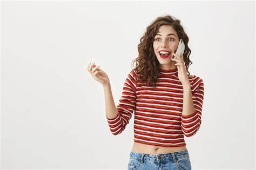
[{"label": "red striped sleeve on the arm with the empty raised hand", "polygon": [[119,99],[119,104],[117,105],[117,117],[113,119],[106,118],[113,135],[122,133],[132,117],[136,106],[136,78],[137,76],[134,70],[127,75],[123,86],[122,97]]}]

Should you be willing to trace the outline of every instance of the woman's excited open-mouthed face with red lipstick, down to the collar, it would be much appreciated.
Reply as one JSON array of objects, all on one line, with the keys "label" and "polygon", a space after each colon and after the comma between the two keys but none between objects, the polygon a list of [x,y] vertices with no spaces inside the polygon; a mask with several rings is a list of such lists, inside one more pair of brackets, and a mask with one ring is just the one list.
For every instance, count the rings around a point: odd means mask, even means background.
[{"label": "woman's excited open-mouthed face with red lipstick, down to the collar", "polygon": [[171,25],[162,25],[159,27],[159,32],[154,37],[153,49],[160,63],[161,69],[176,69],[176,62],[171,60],[171,57],[177,50],[178,44],[179,38],[177,32],[172,28]]}]

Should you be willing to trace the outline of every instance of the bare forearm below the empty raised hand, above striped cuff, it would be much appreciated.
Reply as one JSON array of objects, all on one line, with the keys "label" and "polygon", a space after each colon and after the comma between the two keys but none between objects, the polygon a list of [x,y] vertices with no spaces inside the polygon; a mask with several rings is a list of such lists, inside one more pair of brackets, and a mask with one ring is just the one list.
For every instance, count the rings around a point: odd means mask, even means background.
[{"label": "bare forearm below the empty raised hand, above striped cuff", "polygon": [[106,107],[106,117],[108,119],[113,119],[117,117],[117,107],[114,104],[114,99],[111,91],[111,85],[107,84],[103,86],[105,94],[105,107]]}]

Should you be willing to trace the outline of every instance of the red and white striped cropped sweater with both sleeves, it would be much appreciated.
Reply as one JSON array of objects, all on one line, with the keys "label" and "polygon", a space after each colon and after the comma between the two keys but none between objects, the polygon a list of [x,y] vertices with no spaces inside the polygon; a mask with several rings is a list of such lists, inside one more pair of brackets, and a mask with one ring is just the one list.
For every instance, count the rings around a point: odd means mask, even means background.
[{"label": "red and white striped cropped sweater with both sleeves", "polygon": [[134,141],[155,146],[185,146],[184,135],[192,137],[200,128],[204,83],[190,75],[191,92],[196,111],[182,115],[183,85],[178,70],[160,69],[156,87],[137,82],[134,69],[126,77],[117,117],[107,119],[113,135],[124,131],[134,111]]}]

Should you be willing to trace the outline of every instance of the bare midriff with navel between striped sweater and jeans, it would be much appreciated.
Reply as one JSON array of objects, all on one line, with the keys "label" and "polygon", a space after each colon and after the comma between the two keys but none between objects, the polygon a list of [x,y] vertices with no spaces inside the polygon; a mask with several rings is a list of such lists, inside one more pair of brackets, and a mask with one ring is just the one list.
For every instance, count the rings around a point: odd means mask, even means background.
[{"label": "bare midriff with navel between striped sweater and jeans", "polygon": [[173,153],[173,152],[178,152],[178,151],[184,151],[186,149],[187,149],[186,146],[163,147],[163,146],[141,144],[141,143],[135,142],[135,141],[132,146],[132,152],[155,154],[155,155],[163,154],[163,153]]}]

